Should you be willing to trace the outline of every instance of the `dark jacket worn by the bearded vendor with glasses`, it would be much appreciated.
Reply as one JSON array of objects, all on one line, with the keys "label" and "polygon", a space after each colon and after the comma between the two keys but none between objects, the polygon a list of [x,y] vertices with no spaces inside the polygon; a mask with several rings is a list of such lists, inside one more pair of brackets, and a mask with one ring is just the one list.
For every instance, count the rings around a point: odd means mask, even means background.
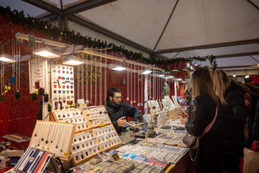
[{"label": "dark jacket worn by the bearded vendor with glasses", "polygon": [[132,117],[133,121],[141,121],[142,120],[142,112],[140,108],[133,107],[133,105],[128,104],[124,101],[122,101],[120,104],[114,104],[111,102],[111,100],[106,99],[104,101],[104,105],[106,105],[106,110],[108,111],[108,116],[111,118],[111,122],[113,123],[113,126],[115,127],[117,133],[119,134],[122,132],[122,127],[119,127],[117,125],[117,120],[119,118],[122,118],[123,116],[126,117],[126,120],[128,120],[128,116]]}]

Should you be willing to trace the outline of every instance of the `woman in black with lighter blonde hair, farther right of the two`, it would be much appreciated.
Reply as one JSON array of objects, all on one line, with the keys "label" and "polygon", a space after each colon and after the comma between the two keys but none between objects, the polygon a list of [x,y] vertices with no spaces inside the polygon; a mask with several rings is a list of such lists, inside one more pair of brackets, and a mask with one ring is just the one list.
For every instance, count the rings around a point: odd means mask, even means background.
[{"label": "woman in black with lighter blonde hair, farther right of the two", "polygon": [[244,123],[247,111],[244,87],[231,80],[223,70],[211,73],[216,95],[223,104],[224,172],[240,172],[240,157],[244,149]]}]

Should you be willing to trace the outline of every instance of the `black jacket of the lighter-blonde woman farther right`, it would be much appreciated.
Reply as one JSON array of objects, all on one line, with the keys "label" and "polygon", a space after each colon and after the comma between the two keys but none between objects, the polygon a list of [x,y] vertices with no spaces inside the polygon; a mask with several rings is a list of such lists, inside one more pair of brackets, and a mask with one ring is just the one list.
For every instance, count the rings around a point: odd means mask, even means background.
[{"label": "black jacket of the lighter-blonde woman farther right", "polygon": [[224,99],[228,103],[228,105],[223,104],[224,147],[225,154],[232,156],[243,156],[244,124],[247,117],[244,93],[244,87],[231,80],[224,94]]}]

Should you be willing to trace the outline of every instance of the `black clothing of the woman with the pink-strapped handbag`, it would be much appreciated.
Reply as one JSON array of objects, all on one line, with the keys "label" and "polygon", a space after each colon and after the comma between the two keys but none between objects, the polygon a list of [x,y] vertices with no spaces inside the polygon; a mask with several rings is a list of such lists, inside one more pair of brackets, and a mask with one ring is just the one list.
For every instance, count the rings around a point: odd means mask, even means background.
[{"label": "black clothing of the woman with the pink-strapped handbag", "polygon": [[[220,99],[218,98],[218,102]],[[211,129],[204,134],[204,129],[213,121],[216,104],[213,99],[202,94],[195,97],[189,105],[189,120],[185,122],[186,130],[193,136],[202,136],[198,149],[198,157],[194,165],[197,172],[221,172],[224,154],[222,122],[220,120],[222,105],[218,107],[218,115]],[[191,149],[195,158],[197,150]]]}]

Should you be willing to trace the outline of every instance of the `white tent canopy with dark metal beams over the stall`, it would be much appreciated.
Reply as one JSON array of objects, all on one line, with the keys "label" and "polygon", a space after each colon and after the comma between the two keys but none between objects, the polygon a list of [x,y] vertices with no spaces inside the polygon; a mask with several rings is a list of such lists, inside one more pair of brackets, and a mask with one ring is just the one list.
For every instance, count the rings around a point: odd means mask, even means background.
[{"label": "white tent canopy with dark metal beams over the stall", "polygon": [[52,21],[59,17],[59,26],[144,55],[214,55],[218,69],[259,74],[258,0],[8,0],[0,6]]}]

